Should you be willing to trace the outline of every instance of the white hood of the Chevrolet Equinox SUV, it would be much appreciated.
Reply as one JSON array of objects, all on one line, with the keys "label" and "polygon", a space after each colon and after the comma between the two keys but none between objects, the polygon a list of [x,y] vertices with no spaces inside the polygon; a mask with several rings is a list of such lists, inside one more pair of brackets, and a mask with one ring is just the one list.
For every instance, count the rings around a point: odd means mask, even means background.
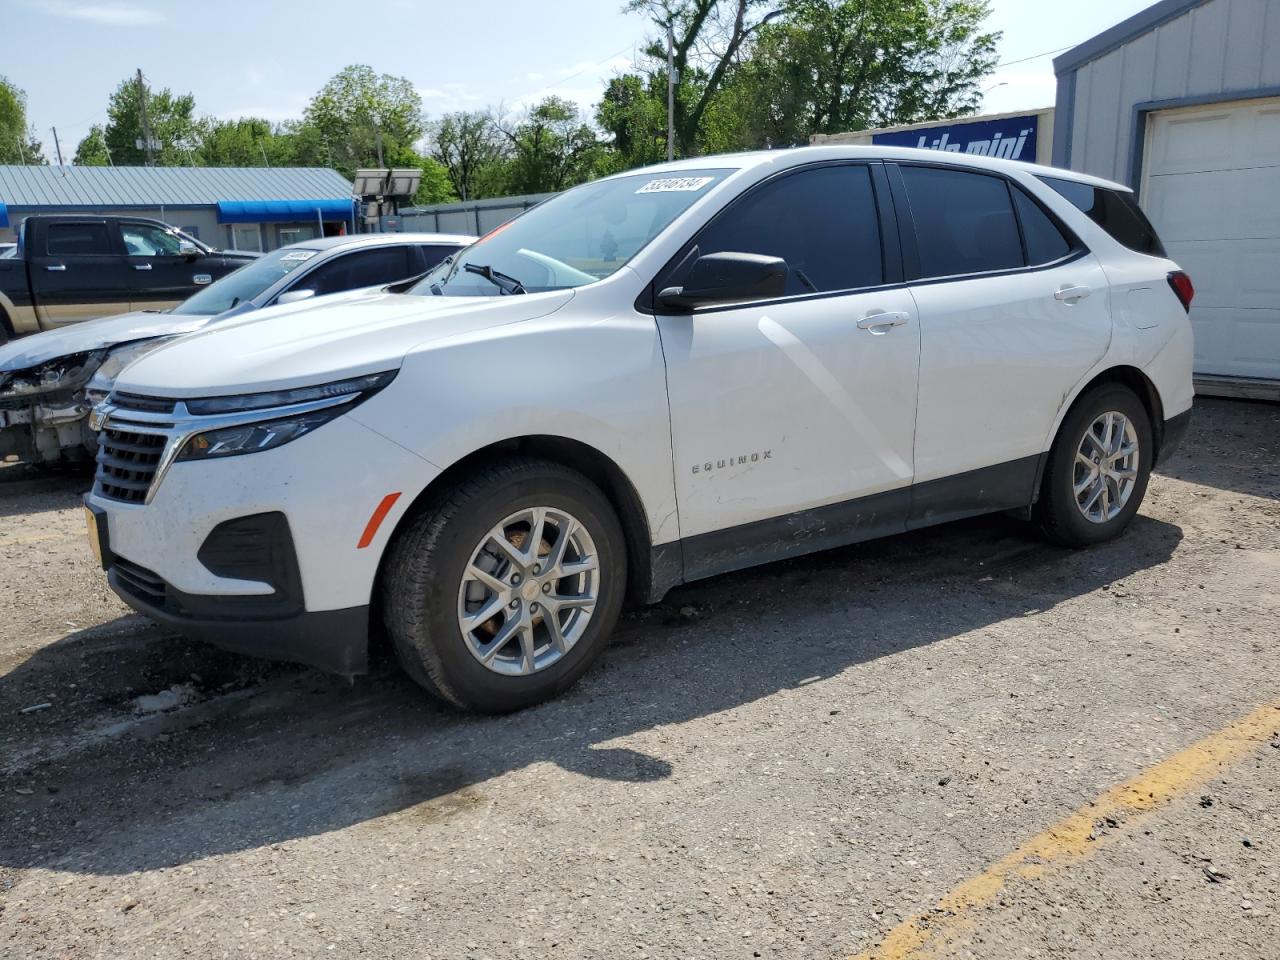
[{"label": "white hood of the Chevrolet Equinox SUV", "polygon": [[517,297],[365,293],[266,307],[166,343],[125,367],[116,387],[220,397],[343,380],[398,369],[424,343],[547,316],[572,298],[571,289]]}]

